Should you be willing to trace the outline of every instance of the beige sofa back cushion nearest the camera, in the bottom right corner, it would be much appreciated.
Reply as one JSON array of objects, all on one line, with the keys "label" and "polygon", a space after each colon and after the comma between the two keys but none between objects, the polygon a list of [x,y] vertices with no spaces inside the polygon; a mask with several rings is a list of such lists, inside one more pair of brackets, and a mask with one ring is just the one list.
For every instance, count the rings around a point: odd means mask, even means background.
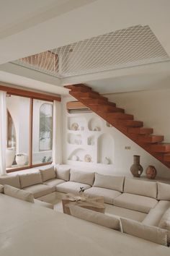
[{"label": "beige sofa back cushion nearest the camera, in the bottom right corner", "polygon": [[146,226],[138,221],[125,218],[120,218],[120,221],[124,233],[146,239],[156,244],[167,245],[167,230],[159,229],[156,226]]}]

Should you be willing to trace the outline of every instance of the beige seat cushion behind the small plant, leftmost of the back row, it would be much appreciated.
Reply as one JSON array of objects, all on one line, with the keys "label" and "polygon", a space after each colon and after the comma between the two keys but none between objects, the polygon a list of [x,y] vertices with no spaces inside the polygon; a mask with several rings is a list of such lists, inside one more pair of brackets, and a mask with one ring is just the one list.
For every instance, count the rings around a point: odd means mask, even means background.
[{"label": "beige seat cushion behind the small plant, leftmost of the back row", "polygon": [[56,186],[56,191],[62,193],[79,193],[80,187],[84,189],[89,189],[88,184],[79,183],[79,182],[64,182]]}]

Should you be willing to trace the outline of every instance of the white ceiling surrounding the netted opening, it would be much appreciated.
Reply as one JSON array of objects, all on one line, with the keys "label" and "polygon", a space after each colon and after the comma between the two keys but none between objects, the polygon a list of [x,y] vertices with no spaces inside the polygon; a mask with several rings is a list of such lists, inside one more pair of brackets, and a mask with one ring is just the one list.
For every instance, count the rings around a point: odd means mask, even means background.
[{"label": "white ceiling surrounding the netted opening", "polygon": [[[106,4],[107,3],[107,4]],[[61,86],[86,82],[101,93],[167,88],[169,62],[76,76],[63,81],[5,64],[134,25],[148,25],[170,56],[169,0],[0,1],[0,80],[64,94]],[[15,75],[15,78],[14,78]],[[20,77],[20,78],[19,78]],[[32,80],[27,80],[32,79]],[[24,85],[25,84],[25,85]],[[47,85],[47,86],[46,86]],[[59,90],[60,89],[60,90]]]}]

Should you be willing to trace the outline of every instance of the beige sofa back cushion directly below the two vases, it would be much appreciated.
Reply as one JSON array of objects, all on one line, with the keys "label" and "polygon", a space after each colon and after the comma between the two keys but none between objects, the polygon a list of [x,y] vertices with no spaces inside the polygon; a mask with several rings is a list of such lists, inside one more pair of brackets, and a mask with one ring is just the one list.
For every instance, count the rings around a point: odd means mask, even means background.
[{"label": "beige sofa back cushion directly below the two vases", "polygon": [[156,198],[156,182],[145,182],[138,179],[125,178],[124,192]]}]

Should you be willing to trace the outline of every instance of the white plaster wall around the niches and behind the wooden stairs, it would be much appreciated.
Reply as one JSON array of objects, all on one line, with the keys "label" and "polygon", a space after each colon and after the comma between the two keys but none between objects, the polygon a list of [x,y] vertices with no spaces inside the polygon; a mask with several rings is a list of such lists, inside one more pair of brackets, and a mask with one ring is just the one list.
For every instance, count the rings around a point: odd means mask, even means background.
[{"label": "white plaster wall around the niches and behind the wooden stairs", "polygon": [[[145,127],[152,127],[154,129],[154,134],[165,135],[166,142],[170,142],[170,89],[116,93],[107,96],[110,101],[117,103],[117,106],[125,108],[126,113],[134,114],[136,120],[144,121]],[[105,147],[104,153],[104,155],[109,155],[110,157],[110,150],[112,150],[112,164],[104,165],[102,163],[96,163],[95,157],[97,157],[97,150],[101,149],[97,148],[97,146],[91,149],[86,145],[86,137],[89,136],[89,133],[86,132],[88,129],[84,132],[74,132],[81,134],[81,136],[85,138],[85,146],[81,145],[81,147],[78,147],[77,145],[70,145],[67,142],[67,136],[68,133],[72,131],[68,130],[68,117],[79,116],[80,119],[84,117],[86,123],[88,123],[89,119],[91,119],[91,117],[96,118],[97,114],[68,114],[66,111],[66,101],[75,101],[75,99],[63,98],[63,163],[71,164],[82,170],[85,169],[98,171],[100,173],[125,174],[126,176],[131,176],[130,166],[133,164],[133,155],[140,155],[140,164],[143,166],[143,175],[145,175],[147,166],[153,165],[158,171],[157,176],[170,178],[169,168],[166,168],[161,162],[157,161],[133,141],[129,140],[128,137],[122,135],[122,133],[114,127],[107,127],[106,122],[103,119],[101,119],[102,131],[98,133],[99,135],[107,133],[113,138],[114,146],[112,149],[110,148],[110,145],[108,145],[107,149]],[[97,138],[99,135],[97,135]],[[125,150],[125,146],[129,146],[130,150]],[[84,148],[86,153],[92,155],[94,162],[84,163],[79,161],[69,161],[68,158],[71,155],[71,152],[76,148]]]}]

